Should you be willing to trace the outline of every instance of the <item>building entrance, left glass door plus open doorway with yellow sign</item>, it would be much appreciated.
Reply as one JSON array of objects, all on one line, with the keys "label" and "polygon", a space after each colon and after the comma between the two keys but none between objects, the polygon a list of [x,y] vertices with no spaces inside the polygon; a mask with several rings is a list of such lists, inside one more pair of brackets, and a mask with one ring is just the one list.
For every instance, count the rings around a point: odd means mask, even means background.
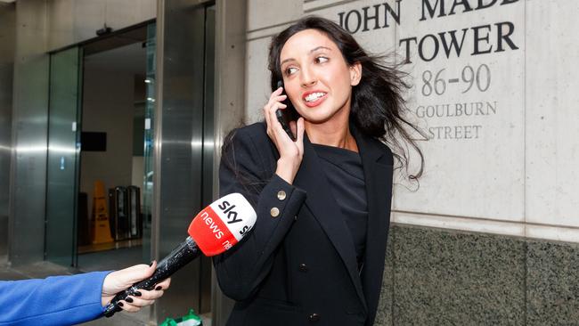
[{"label": "building entrance, left glass door plus open doorway with yellow sign", "polygon": [[151,22],[51,54],[47,260],[150,259],[155,53]]}]

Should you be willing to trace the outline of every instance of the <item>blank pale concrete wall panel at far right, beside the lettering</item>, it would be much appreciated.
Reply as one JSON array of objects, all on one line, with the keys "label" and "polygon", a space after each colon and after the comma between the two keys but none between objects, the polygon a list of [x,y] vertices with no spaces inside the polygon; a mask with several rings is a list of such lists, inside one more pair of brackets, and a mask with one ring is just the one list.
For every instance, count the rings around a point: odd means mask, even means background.
[{"label": "blank pale concrete wall panel at far right, beside the lettering", "polygon": [[528,1],[526,7],[526,221],[577,228],[579,3]]}]

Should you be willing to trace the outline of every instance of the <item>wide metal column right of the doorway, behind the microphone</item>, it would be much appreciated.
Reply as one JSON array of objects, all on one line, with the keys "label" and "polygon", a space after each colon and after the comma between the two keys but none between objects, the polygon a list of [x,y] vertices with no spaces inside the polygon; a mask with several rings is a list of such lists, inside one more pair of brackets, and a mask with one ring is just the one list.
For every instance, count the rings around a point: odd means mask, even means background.
[{"label": "wide metal column right of the doorway, behind the microphone", "polygon": [[[213,174],[213,96],[206,94],[210,91],[206,81],[213,74],[206,58],[207,12],[206,1],[158,3],[151,240],[152,257],[158,259],[186,238],[192,217],[211,200],[204,195],[211,193],[206,187],[212,186]],[[208,264],[207,258],[196,259],[175,273],[174,286],[155,305],[153,319],[162,322],[189,308],[201,313],[207,309],[203,302],[210,296],[207,293],[204,300],[202,280],[210,271]]]}]

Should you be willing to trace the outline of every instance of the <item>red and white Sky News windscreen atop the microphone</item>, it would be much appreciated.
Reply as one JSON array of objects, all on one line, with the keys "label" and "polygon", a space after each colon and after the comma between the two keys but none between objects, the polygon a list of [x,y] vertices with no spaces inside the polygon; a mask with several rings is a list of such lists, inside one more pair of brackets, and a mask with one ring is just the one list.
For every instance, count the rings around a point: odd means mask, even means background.
[{"label": "red and white Sky News windscreen atop the microphone", "polygon": [[230,193],[201,210],[188,232],[205,256],[216,256],[239,242],[256,219],[249,201],[241,193]]}]

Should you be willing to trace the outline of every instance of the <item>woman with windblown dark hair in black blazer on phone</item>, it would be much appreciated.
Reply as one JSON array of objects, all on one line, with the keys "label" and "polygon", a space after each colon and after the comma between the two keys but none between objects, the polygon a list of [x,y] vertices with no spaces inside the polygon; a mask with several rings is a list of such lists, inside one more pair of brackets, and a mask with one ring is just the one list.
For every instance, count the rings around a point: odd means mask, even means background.
[{"label": "woman with windblown dark hair in black blazer on phone", "polygon": [[[406,168],[408,145],[418,151],[411,179],[423,164],[402,73],[319,17],[273,37],[269,69],[265,121],[233,130],[223,146],[221,194],[241,192],[257,211],[247,239],[214,259],[221,289],[237,301],[227,325],[371,325],[394,158]],[[276,110],[295,110],[295,141]]]}]

